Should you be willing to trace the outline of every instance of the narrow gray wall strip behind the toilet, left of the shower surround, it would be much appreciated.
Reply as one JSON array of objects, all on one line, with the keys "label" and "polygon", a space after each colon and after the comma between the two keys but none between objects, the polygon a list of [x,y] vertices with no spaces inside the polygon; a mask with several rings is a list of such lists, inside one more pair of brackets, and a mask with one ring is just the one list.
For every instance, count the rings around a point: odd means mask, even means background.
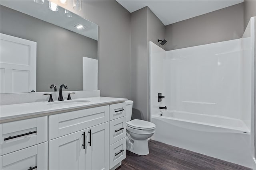
[{"label": "narrow gray wall strip behind the toilet, left of the shower surround", "polygon": [[148,119],[147,10],[131,14],[131,100],[132,119]]}]

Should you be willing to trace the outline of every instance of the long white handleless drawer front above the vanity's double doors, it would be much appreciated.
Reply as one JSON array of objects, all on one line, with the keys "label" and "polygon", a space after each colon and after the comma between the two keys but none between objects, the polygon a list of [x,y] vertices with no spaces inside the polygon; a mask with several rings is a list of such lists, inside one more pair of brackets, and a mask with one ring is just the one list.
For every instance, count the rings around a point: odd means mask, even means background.
[{"label": "long white handleless drawer front above the vanity's double doors", "polygon": [[49,116],[49,140],[107,122],[109,107],[101,106]]}]

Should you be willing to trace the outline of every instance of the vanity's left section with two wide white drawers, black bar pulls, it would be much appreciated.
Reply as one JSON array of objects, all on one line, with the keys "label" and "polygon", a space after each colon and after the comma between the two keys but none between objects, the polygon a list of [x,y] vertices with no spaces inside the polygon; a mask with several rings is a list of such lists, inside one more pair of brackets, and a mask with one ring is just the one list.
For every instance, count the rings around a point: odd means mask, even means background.
[{"label": "vanity's left section with two wide white drawers, black bar pulls", "polygon": [[48,168],[47,116],[1,123],[1,170]]}]

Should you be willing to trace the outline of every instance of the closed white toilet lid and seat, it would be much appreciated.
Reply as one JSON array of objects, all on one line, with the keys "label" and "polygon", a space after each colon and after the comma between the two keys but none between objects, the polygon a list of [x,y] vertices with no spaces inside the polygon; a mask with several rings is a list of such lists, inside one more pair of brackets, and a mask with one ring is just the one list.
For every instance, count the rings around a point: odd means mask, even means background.
[{"label": "closed white toilet lid and seat", "polygon": [[151,123],[149,121],[144,121],[144,120],[139,120],[139,119],[134,119],[131,121],[126,122],[126,124],[129,127],[135,128],[135,129],[154,129],[156,125],[154,123]]}]

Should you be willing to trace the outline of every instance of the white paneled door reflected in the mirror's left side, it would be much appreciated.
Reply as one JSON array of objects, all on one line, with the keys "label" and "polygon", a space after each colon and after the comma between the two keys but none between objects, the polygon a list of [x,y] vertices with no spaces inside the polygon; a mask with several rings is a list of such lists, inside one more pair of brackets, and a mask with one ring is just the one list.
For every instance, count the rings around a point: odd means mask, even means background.
[{"label": "white paneled door reflected in the mirror's left side", "polygon": [[0,34],[0,93],[36,91],[36,42]]}]

